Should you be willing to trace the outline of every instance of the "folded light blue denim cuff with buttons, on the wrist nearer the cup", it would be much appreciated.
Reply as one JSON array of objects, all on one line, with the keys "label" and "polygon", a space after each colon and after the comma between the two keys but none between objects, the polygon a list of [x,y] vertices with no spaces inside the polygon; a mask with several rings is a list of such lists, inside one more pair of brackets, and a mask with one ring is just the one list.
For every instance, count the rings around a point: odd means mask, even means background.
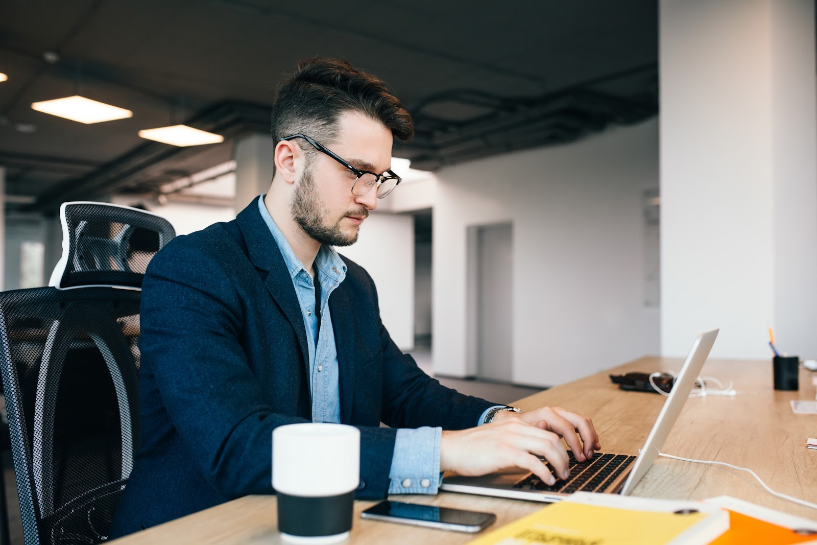
[{"label": "folded light blue denim cuff with buttons, on the wrist nearer the cup", "polygon": [[389,494],[437,494],[440,488],[441,427],[397,430]]}]

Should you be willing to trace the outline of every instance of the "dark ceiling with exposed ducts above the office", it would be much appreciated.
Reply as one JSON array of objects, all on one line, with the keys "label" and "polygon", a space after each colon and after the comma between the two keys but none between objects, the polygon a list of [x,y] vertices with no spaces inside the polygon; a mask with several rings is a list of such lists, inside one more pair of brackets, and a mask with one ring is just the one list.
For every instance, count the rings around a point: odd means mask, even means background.
[{"label": "dark ceiling with exposed ducts above the office", "polygon": [[[335,56],[384,79],[417,135],[412,166],[576,141],[658,111],[655,0],[31,0],[0,3],[7,209],[155,192],[269,132],[281,74]],[[133,117],[84,125],[30,108],[81,94]],[[225,136],[177,148],[171,123]]]}]

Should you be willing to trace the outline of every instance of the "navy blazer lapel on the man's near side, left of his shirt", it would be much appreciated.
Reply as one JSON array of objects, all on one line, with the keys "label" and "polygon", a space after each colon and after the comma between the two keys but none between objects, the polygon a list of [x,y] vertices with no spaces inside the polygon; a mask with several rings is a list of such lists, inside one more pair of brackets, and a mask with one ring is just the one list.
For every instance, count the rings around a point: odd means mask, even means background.
[{"label": "navy blazer lapel on the man's near side, left of his shirt", "polygon": [[270,233],[270,228],[266,226],[264,218],[261,217],[261,212],[258,212],[257,199],[252,199],[249,206],[244,208],[235,219],[247,242],[250,262],[257,269],[269,272],[264,285],[295,330],[308,377],[309,348],[306,344],[306,326],[301,315],[301,304],[298,302],[295,287],[292,286],[292,277],[283,262],[283,256],[275,243],[275,238]]}]

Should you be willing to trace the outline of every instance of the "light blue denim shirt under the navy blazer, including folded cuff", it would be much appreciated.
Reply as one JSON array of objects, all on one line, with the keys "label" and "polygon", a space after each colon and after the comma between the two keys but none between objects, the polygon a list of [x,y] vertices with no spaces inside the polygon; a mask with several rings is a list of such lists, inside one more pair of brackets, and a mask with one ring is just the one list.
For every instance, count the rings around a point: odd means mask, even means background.
[{"label": "light blue denim shirt under the navy blazer, including folded cuff", "polygon": [[[292,277],[292,285],[301,304],[309,346],[312,422],[340,422],[341,395],[337,369],[337,347],[329,296],[346,278],[346,264],[331,246],[321,246],[315,257],[320,282],[320,332],[315,315],[315,284],[312,275],[292,252],[283,233],[264,206],[264,195],[258,198],[258,210],[270,228],[283,262]],[[317,339],[317,342],[315,342]],[[482,418],[480,418],[482,422]],[[440,438],[442,428],[421,427],[397,430],[395,452],[389,471],[389,494],[436,494],[440,485]]]}]

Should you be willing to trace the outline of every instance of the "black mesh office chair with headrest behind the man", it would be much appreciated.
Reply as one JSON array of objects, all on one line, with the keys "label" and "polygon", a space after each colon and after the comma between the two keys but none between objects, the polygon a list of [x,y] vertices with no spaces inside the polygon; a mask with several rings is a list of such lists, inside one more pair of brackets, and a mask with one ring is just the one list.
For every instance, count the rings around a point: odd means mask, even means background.
[{"label": "black mesh office chair with headrest behind the man", "polygon": [[141,280],[161,217],[65,203],[51,287],[0,293],[0,371],[26,545],[107,538],[140,441]]}]

